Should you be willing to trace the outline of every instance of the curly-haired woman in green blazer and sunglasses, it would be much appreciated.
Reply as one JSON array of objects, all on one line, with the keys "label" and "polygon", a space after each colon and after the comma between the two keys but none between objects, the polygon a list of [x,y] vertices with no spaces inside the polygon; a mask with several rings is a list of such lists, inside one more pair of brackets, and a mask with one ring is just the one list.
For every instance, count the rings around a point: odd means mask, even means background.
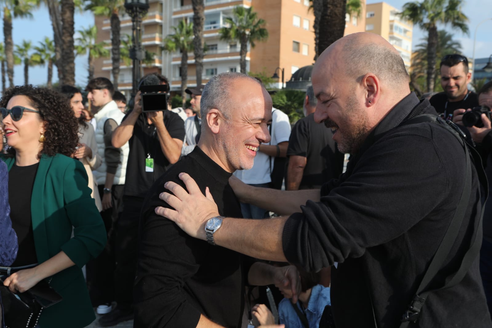
[{"label": "curly-haired woman in green blazer and sunglasses", "polygon": [[43,310],[40,327],[86,327],[95,315],[82,267],[104,248],[106,230],[84,166],[69,157],[78,143],[77,121],[65,97],[31,86],[7,90],[0,113],[10,146],[0,156],[9,169],[9,194],[18,195],[9,201],[14,229],[16,209],[17,220],[24,220],[26,213],[31,216],[29,230],[17,222],[23,237],[16,262],[34,256],[38,263],[13,273],[4,285],[23,292],[47,279],[63,299]]}]

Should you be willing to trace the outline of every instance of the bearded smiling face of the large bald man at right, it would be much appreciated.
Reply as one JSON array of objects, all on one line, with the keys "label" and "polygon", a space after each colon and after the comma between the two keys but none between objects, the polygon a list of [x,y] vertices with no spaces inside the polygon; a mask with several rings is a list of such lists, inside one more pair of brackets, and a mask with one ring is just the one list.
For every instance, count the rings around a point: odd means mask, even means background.
[{"label": "bearded smiling face of the large bald man at right", "polygon": [[[326,69],[326,70],[325,70]],[[371,127],[364,107],[364,95],[355,81],[328,64],[323,70],[314,70],[312,86],[318,99],[314,120],[334,131],[333,140],[343,153],[356,153],[366,140]],[[327,70],[333,73],[327,74]],[[337,80],[333,79],[337,76]]]}]

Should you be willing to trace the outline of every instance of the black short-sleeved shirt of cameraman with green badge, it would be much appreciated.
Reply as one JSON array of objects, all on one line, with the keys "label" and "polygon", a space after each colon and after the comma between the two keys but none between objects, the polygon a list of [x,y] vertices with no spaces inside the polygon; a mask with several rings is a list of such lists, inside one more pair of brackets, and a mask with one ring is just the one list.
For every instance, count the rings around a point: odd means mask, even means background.
[{"label": "black short-sleeved shirt of cameraman with green badge", "polygon": [[[125,120],[131,113],[126,113]],[[171,138],[184,140],[184,121],[171,111],[163,111],[164,126]],[[154,124],[147,122],[145,113],[139,115],[133,128],[133,135],[128,141],[130,151],[126,164],[124,194],[144,198],[154,181],[170,166],[160,148],[159,136]],[[180,150],[181,151],[181,150]],[[145,172],[145,159],[154,159],[154,172]]]}]

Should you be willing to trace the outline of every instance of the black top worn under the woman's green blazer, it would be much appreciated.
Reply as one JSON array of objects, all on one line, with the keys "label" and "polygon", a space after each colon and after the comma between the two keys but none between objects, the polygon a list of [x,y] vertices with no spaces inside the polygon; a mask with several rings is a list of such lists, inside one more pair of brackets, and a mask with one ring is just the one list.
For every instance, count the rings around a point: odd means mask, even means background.
[{"label": "black top worn under the woman's green blazer", "polygon": [[8,172],[8,199],[12,228],[17,234],[19,252],[12,267],[37,263],[31,221],[31,194],[39,163],[29,166],[13,165]]}]

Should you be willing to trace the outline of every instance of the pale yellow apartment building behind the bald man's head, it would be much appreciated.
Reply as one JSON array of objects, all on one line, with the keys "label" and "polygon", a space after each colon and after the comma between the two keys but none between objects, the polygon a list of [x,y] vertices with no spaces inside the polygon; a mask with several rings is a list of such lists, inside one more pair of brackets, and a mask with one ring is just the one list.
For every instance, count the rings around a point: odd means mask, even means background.
[{"label": "pale yellow apartment building behind the bald man's head", "polygon": [[366,6],[366,31],[388,40],[400,53],[407,70],[412,57],[413,24],[400,18],[397,8],[386,2],[368,3]]}]

